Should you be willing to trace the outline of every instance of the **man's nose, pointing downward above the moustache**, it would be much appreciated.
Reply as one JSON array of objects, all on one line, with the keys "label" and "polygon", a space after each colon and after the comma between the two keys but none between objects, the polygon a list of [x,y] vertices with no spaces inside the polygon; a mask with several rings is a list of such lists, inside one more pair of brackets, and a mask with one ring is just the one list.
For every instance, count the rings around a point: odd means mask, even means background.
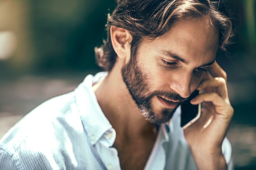
[{"label": "man's nose, pointing downward above the moustache", "polygon": [[170,88],[178,93],[182,98],[188,98],[191,93],[191,74],[179,74],[171,80]]}]

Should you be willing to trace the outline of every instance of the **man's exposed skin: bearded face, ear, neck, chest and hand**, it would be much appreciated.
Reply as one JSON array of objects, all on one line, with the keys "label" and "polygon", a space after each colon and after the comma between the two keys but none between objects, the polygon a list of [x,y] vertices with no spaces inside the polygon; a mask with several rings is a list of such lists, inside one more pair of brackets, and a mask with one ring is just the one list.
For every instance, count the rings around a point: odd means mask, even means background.
[{"label": "man's exposed skin: bearded face, ear, neck, chest and hand", "polygon": [[[106,79],[94,85],[93,90],[116,130],[114,147],[122,169],[144,168],[156,137],[154,123],[168,121],[180,101],[196,88],[205,93],[191,103],[205,101],[202,116],[184,130],[185,138],[199,169],[226,168],[221,144],[233,108],[225,72],[214,62],[218,38],[218,32],[205,17],[179,20],[162,37],[144,39],[137,54],[131,56],[132,36],[125,29],[111,27],[111,41],[118,57]],[[208,65],[215,78],[204,71]],[[172,101],[166,105],[161,97]],[[145,98],[146,107],[141,109],[140,100]]]}]

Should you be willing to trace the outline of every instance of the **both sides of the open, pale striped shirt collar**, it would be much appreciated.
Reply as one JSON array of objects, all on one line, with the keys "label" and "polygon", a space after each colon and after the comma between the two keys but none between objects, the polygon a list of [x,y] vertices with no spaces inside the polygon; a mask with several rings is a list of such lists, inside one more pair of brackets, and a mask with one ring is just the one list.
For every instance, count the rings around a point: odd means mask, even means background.
[{"label": "both sides of the open, pale striped shirt collar", "polygon": [[[109,131],[112,126],[100,105],[98,104],[95,93],[93,92],[92,85],[104,79],[108,72],[99,72],[95,76],[88,75],[85,80],[74,90],[76,104],[80,112],[80,118],[83,123],[85,131],[88,133],[90,142],[94,145],[104,133]],[[159,129],[161,132],[160,141],[169,141],[169,135],[174,132],[174,128],[180,128],[179,124],[174,119],[180,116],[180,107],[177,108],[171,120],[161,125]]]}]

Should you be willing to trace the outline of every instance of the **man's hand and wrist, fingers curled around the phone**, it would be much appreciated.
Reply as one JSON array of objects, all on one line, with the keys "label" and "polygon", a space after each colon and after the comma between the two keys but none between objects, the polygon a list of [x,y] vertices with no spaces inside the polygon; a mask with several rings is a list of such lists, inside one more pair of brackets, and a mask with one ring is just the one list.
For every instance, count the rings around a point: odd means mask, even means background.
[{"label": "man's hand and wrist, fingers curled around the phone", "polygon": [[[208,167],[220,169],[219,166],[215,166],[220,163],[225,169],[222,143],[234,109],[228,97],[226,72],[217,62],[208,68],[208,72],[205,73],[197,88],[197,90],[203,90],[204,93],[195,97],[195,100],[191,100],[194,105],[203,102],[200,118],[184,129],[183,134],[198,169],[208,169]],[[181,114],[186,114],[186,112],[182,111]],[[210,166],[209,162],[211,162]]]}]

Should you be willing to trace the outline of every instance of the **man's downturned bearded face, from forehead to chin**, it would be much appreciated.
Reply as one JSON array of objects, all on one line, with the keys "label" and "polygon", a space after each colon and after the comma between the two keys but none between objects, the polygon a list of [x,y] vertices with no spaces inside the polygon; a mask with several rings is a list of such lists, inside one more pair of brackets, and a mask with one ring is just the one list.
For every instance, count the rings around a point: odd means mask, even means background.
[{"label": "man's downturned bearded face, from forehead to chin", "polygon": [[151,123],[165,123],[197,88],[215,60],[218,32],[205,18],[176,21],[169,32],[142,40],[122,68],[127,88]]}]

